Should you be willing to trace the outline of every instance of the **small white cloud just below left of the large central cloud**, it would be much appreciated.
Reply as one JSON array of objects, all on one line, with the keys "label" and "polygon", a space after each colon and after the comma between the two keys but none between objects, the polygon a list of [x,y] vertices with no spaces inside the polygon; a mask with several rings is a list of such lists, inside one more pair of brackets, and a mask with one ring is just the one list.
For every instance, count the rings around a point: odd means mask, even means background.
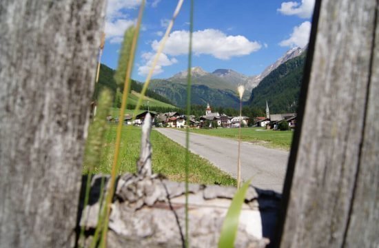
[{"label": "small white cloud just below left of the large central cloud", "polygon": [[[145,61],[145,65],[139,67],[139,75],[145,76],[149,73],[150,68],[152,68],[152,63],[155,59],[155,55],[156,54],[153,52],[145,52],[141,55],[141,58],[143,59],[143,61]],[[158,62],[156,63],[156,66],[154,68],[153,75],[163,72],[163,66],[172,65],[174,63],[178,63],[178,61],[175,58],[170,59],[166,54],[161,53]]]}]

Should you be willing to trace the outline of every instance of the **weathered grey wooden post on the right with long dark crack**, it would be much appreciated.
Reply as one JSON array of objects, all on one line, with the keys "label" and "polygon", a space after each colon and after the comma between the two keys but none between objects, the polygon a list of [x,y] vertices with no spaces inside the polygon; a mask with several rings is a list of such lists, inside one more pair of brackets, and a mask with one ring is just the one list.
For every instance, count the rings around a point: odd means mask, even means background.
[{"label": "weathered grey wooden post on the right with long dark crack", "polygon": [[378,245],[377,8],[321,2],[281,247]]}]

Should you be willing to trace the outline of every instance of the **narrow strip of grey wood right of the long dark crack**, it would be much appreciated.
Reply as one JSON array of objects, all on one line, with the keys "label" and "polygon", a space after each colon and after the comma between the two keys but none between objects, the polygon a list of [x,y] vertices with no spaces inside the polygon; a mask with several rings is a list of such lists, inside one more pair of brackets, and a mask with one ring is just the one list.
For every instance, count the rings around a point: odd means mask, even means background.
[{"label": "narrow strip of grey wood right of the long dark crack", "polygon": [[371,53],[371,75],[354,202],[346,230],[349,247],[379,247],[379,5]]}]

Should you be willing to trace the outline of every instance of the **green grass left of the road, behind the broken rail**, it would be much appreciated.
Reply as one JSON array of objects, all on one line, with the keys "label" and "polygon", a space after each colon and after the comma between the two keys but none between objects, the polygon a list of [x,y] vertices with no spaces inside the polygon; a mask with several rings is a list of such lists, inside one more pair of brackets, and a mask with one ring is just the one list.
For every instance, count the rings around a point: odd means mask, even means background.
[{"label": "green grass left of the road, behind the broken rail", "polygon": [[[116,127],[110,126],[105,134],[105,144],[103,144],[101,162],[94,169],[94,173],[110,174],[112,159],[114,155],[114,141],[116,139]],[[152,169],[154,173],[160,173],[170,180],[185,180],[185,148],[170,139],[152,130]],[[136,161],[139,158],[141,143],[140,127],[123,127],[120,151],[121,174],[126,172],[136,173]],[[200,184],[233,185],[236,180],[220,169],[214,167],[209,161],[190,154],[189,156],[189,182]]]}]

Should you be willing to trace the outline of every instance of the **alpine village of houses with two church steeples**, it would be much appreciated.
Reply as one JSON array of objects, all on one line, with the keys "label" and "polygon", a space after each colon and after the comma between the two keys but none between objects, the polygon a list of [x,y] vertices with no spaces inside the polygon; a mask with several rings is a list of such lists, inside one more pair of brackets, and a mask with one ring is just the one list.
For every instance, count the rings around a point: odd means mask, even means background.
[{"label": "alpine village of houses with two church steeples", "polygon": [[[154,111],[146,110],[141,114],[136,115],[133,118],[131,114],[125,114],[123,121],[125,125],[141,126],[145,120],[147,113],[153,118],[155,127],[175,127],[186,128],[187,118],[189,118],[189,127],[192,128],[236,128],[236,127],[265,127],[267,130],[279,130],[280,125],[285,127],[280,130],[294,130],[296,127],[296,113],[285,114],[269,114],[269,106],[266,104],[266,116],[257,116],[250,119],[247,116],[227,116],[226,114],[220,114],[218,112],[212,112],[209,103],[205,109],[205,115],[203,116],[186,116],[180,112],[165,112],[158,113]],[[113,116],[107,116],[109,123],[119,123],[119,118],[113,118]]]}]

